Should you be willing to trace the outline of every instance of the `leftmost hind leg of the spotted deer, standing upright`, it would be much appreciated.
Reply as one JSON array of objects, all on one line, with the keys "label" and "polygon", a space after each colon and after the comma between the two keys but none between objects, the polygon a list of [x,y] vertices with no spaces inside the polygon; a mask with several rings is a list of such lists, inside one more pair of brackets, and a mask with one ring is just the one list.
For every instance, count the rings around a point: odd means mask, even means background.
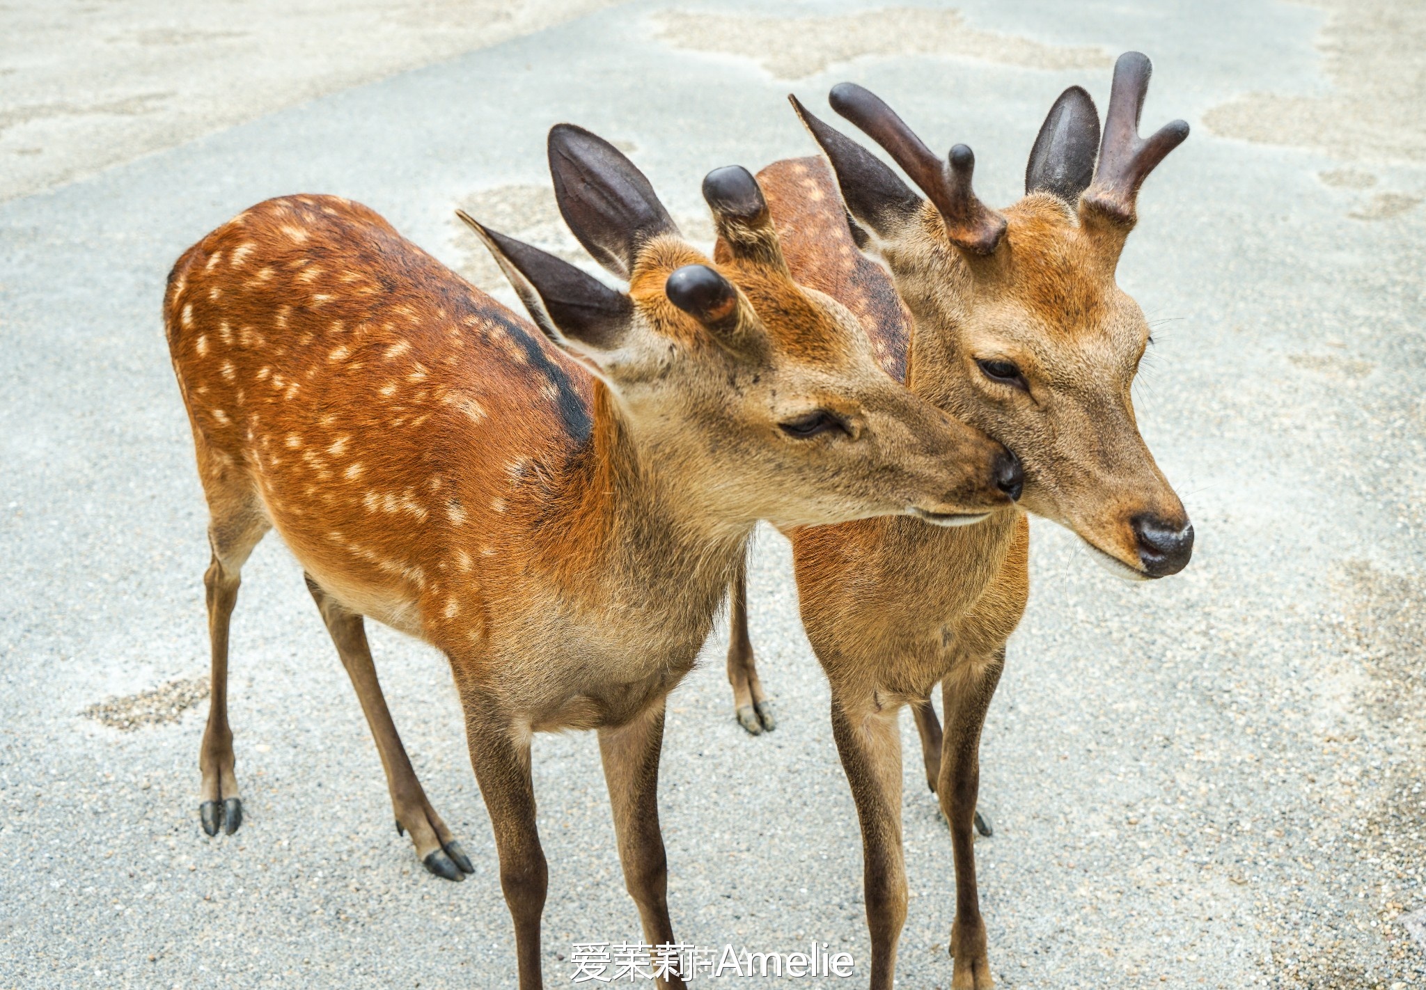
[{"label": "leftmost hind leg of the spotted deer, standing upright", "polygon": [[[200,468],[204,456],[200,446]],[[257,495],[241,482],[224,484],[222,475],[202,472],[208,495],[208,544],[212,559],[202,575],[208,602],[208,641],[212,666],[208,678],[208,723],[202,730],[198,769],[202,773],[198,817],[210,836],[232,835],[242,825],[232,729],[228,726],[228,628],[238,603],[242,563],[271,528]]]}]

